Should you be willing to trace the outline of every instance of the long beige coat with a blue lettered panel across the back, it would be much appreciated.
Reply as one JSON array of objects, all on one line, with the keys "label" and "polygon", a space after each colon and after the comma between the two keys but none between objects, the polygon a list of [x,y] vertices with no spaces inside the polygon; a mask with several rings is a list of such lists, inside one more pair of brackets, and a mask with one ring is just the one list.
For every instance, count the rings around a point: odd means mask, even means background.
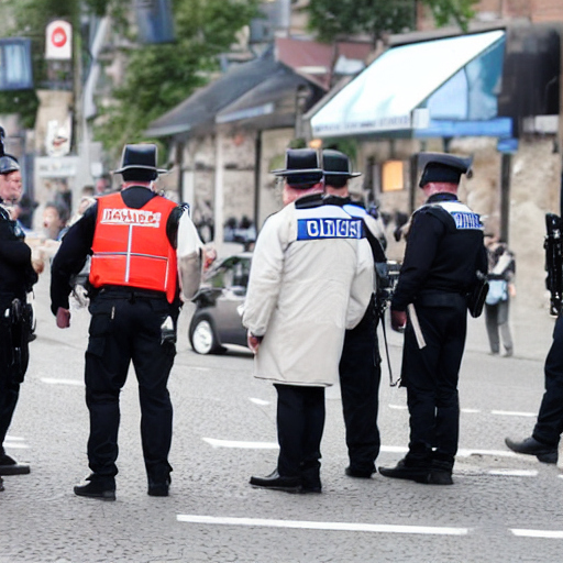
[{"label": "long beige coat with a blue lettered panel across the back", "polygon": [[264,336],[256,377],[324,387],[338,382],[344,331],[360,322],[369,302],[374,264],[365,239],[297,240],[298,214],[290,203],[266,220],[243,324]]}]

